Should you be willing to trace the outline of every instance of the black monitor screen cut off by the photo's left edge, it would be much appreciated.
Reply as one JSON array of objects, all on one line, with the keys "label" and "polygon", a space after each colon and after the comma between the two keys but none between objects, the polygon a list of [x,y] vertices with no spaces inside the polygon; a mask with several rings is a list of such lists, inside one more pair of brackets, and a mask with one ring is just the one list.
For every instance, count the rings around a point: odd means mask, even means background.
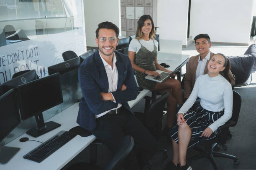
[{"label": "black monitor screen cut off by the photo's left edge", "polygon": [[0,109],[0,141],[2,141],[20,123],[14,89],[0,96]]}]

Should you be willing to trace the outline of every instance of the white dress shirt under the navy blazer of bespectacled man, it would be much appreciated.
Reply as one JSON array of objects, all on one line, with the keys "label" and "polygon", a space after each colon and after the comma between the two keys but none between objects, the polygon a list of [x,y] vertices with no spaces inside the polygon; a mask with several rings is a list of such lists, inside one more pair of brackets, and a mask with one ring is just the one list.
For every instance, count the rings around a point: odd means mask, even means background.
[{"label": "white dress shirt under the navy blazer of bespectacled man", "polygon": [[[99,52],[100,53],[100,52]],[[111,65],[108,64],[108,62],[106,62],[102,56],[100,55],[100,58],[104,64],[107,76],[108,76],[108,92],[115,92],[116,88],[117,88],[117,83],[118,83],[118,70],[116,68],[115,62],[116,62],[116,57],[115,57],[115,53],[113,55],[113,69],[111,67]],[[112,93],[111,93],[112,94]],[[113,96],[113,95],[112,95]],[[113,99],[115,102],[115,97],[113,96]],[[111,110],[115,110],[118,109],[119,107],[122,107],[122,104],[118,103],[118,107],[113,108]],[[110,110],[107,110],[103,113],[100,113],[99,115],[95,115],[96,118],[101,117],[105,114],[107,114],[107,112],[109,112]]]}]

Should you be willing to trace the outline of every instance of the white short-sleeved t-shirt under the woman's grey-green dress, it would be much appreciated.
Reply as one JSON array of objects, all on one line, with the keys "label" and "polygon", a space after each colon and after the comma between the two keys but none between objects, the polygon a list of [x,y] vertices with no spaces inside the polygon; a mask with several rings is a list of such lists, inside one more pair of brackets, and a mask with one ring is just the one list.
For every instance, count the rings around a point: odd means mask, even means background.
[{"label": "white short-sleeved t-shirt under the woman's grey-green dress", "polygon": [[[132,52],[135,52],[136,54],[138,53],[138,50],[140,50],[141,48],[141,44],[146,47],[146,49],[148,51],[153,51],[154,50],[154,43],[156,45],[156,48],[158,49],[158,42],[156,40],[152,40],[151,38],[148,40],[148,41],[145,41],[143,39],[141,40],[137,40],[136,38],[133,38],[130,42],[130,45],[129,45],[129,48],[128,48],[128,51],[132,51]],[[154,42],[153,42],[154,41]]]}]

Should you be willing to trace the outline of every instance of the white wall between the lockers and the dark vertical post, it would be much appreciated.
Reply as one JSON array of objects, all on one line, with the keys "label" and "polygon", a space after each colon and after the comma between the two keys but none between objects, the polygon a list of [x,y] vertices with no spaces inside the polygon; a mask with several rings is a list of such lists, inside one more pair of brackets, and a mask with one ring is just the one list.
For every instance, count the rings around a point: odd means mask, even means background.
[{"label": "white wall between the lockers and the dark vertical post", "polygon": [[188,0],[157,1],[157,33],[161,39],[182,40],[187,45]]}]

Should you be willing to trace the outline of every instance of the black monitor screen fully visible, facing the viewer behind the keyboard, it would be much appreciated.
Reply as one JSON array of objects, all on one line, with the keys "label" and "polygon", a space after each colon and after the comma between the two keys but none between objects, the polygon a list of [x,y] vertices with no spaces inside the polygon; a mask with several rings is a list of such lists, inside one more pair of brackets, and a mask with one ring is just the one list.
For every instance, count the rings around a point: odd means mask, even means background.
[{"label": "black monitor screen fully visible, facing the viewer behind the keyboard", "polygon": [[19,85],[16,88],[22,120],[63,102],[59,73]]}]

